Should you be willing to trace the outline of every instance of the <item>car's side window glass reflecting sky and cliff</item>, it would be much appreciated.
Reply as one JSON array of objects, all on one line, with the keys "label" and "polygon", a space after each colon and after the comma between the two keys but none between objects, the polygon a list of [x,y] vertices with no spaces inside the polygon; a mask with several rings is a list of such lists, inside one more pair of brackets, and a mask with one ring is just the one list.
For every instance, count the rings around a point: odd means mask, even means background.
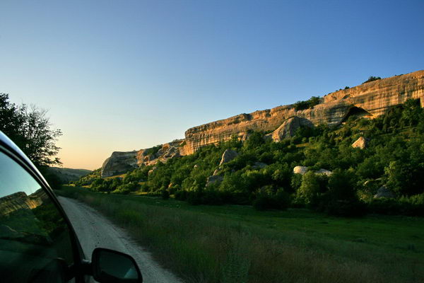
[{"label": "car's side window glass reflecting sky and cliff", "polygon": [[0,152],[1,282],[64,282],[73,261],[66,221],[25,169]]}]

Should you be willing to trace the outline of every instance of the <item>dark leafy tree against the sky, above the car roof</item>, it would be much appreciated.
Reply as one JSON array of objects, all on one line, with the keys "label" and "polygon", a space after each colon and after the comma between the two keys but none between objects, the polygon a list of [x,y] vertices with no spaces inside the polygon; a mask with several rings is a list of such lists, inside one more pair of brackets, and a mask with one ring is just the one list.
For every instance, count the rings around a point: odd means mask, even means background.
[{"label": "dark leafy tree against the sky, above the car roof", "polygon": [[59,165],[55,157],[59,153],[56,146],[61,136],[60,129],[52,129],[47,110],[35,105],[15,105],[8,101],[8,94],[0,93],[0,130],[37,166]]}]

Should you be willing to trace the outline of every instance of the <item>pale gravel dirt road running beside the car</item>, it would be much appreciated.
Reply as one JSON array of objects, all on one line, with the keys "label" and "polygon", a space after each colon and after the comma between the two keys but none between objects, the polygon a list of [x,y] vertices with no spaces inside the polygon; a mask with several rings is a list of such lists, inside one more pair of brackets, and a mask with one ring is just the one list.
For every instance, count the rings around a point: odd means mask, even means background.
[{"label": "pale gravel dirt road running beside the car", "polygon": [[66,197],[59,197],[66,214],[78,234],[84,253],[91,258],[94,248],[110,248],[131,255],[138,263],[143,282],[146,283],[181,283],[175,275],[164,270],[151,255],[134,243],[128,234],[119,229],[104,216],[87,204]]}]

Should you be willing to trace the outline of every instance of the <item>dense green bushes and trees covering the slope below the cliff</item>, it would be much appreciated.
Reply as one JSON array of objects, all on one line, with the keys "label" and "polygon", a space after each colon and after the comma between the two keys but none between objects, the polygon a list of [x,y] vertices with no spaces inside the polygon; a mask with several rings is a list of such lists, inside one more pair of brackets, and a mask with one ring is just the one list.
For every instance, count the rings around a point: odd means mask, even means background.
[{"label": "dense green bushes and trees covering the slope below the cliff", "polygon": [[[353,148],[360,137],[365,148]],[[417,100],[408,100],[373,120],[353,115],[339,127],[301,127],[281,142],[251,132],[244,142],[234,138],[112,178],[102,179],[94,171],[74,185],[98,192],[153,193],[189,204],[303,207],[337,216],[422,216],[423,141],[424,112]],[[239,154],[218,168],[226,149]],[[293,173],[295,166],[307,166],[308,172]],[[320,169],[332,174],[314,173]],[[206,186],[216,170],[222,182]],[[382,186],[393,198],[374,197]]]}]

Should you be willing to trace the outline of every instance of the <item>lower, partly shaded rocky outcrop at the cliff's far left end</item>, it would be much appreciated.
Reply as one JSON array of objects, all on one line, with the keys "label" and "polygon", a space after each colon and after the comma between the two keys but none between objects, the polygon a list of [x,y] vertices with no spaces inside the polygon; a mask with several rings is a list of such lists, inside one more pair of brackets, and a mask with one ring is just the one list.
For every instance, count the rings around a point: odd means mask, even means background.
[{"label": "lower, partly shaded rocky outcrop at the cliff's far left end", "polygon": [[166,162],[169,158],[182,156],[184,152],[184,139],[176,139],[163,144],[158,151],[155,148],[141,149],[139,151],[114,151],[102,165],[102,178],[119,175],[138,168],[142,165],[154,165]]}]

